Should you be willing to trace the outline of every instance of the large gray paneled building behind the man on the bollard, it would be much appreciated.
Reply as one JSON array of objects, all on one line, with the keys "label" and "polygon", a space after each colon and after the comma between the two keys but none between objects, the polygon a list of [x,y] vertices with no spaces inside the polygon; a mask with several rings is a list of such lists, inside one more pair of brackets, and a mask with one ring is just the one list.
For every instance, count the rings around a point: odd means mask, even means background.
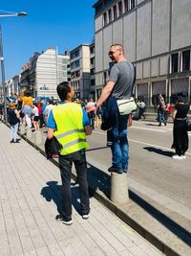
[{"label": "large gray paneled building behind the man on the bollard", "polygon": [[110,45],[137,66],[136,98],[191,100],[191,0],[99,0],[95,8],[96,96],[108,79]]}]

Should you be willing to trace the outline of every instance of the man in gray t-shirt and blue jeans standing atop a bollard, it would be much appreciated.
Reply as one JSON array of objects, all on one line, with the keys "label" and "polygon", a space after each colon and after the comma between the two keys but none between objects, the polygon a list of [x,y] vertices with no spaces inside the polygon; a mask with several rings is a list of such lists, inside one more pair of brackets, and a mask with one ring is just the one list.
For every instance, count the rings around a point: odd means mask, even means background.
[{"label": "man in gray t-shirt and blue jeans standing atop a bollard", "polygon": [[113,120],[110,118],[113,124],[107,131],[110,135],[110,142],[111,139],[113,140],[110,144],[113,155],[112,166],[108,171],[123,174],[128,171],[129,162],[129,146],[127,139],[127,122],[129,115],[119,114],[117,100],[129,99],[132,96],[132,88],[136,75],[134,65],[124,57],[121,44],[111,45],[109,57],[114,61],[109,81],[103,88],[96,104],[87,107],[87,111],[96,111],[96,109],[107,100],[107,107],[110,109],[109,112],[111,112],[113,116]]}]

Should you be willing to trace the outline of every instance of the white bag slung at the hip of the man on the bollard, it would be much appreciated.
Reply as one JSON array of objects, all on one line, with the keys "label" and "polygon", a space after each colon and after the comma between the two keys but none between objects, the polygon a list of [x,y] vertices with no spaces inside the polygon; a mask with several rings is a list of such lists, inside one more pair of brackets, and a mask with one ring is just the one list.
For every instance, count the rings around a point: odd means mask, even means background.
[{"label": "white bag slung at the hip of the man on the bollard", "polygon": [[120,115],[129,115],[138,107],[133,97],[127,100],[117,100],[117,106]]}]

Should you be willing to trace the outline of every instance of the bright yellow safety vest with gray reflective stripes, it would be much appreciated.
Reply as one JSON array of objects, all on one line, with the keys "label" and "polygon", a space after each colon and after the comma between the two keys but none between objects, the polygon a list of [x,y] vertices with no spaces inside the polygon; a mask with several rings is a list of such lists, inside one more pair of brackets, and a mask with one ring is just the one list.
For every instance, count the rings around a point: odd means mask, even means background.
[{"label": "bright yellow safety vest with gray reflective stripes", "polygon": [[66,103],[53,107],[56,128],[53,135],[62,145],[61,155],[87,149],[81,105]]}]

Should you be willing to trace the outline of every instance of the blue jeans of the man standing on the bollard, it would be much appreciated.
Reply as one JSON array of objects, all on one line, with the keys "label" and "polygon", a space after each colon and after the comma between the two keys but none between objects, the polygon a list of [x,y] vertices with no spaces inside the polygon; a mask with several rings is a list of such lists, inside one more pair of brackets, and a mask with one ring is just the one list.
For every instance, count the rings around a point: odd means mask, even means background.
[{"label": "blue jeans of the man standing on the bollard", "polygon": [[128,170],[129,145],[127,139],[128,115],[119,115],[117,126],[112,128],[112,163],[118,171]]}]

